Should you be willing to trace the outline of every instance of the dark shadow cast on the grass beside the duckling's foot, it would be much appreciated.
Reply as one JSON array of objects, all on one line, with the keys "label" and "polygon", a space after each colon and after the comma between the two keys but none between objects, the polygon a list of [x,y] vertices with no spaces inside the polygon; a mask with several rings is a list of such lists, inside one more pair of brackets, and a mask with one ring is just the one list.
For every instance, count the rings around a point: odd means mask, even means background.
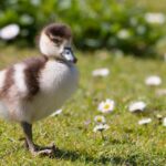
[{"label": "dark shadow cast on the grass beside the duckling's foot", "polygon": [[64,160],[71,160],[76,162],[81,160],[85,164],[128,164],[128,165],[136,165],[135,159],[137,156],[129,156],[128,158],[122,158],[120,156],[100,156],[100,157],[93,157],[90,156],[86,153],[81,152],[74,152],[74,151],[66,151],[66,149],[58,149],[54,155],[51,158],[54,159],[64,159]]}]

